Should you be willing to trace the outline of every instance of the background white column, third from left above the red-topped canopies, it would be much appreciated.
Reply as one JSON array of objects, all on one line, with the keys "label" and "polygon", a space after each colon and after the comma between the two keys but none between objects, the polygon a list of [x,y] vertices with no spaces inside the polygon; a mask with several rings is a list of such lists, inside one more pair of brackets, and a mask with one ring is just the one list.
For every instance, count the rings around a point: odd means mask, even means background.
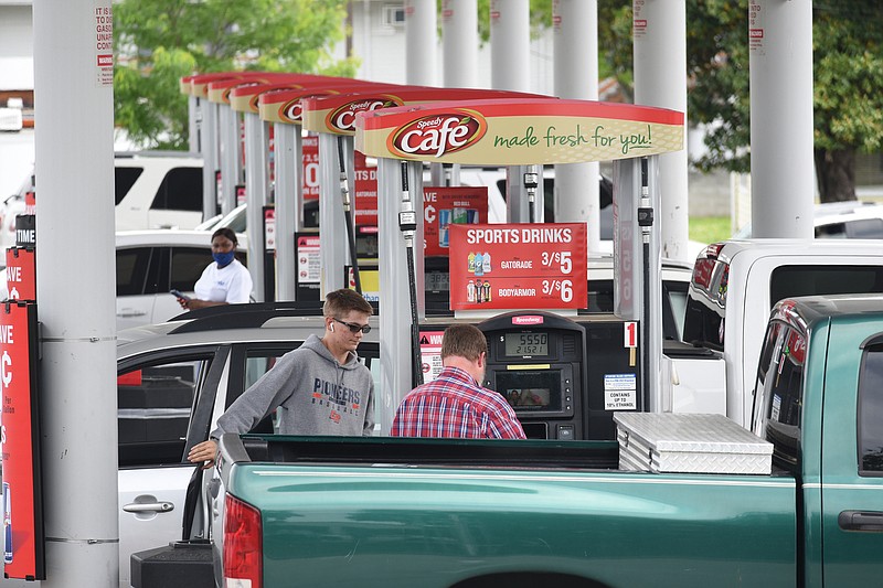
[{"label": "background white column, third from left above the red-topped canopies", "polygon": [[490,1],[490,78],[494,89],[530,90],[528,0]]}]

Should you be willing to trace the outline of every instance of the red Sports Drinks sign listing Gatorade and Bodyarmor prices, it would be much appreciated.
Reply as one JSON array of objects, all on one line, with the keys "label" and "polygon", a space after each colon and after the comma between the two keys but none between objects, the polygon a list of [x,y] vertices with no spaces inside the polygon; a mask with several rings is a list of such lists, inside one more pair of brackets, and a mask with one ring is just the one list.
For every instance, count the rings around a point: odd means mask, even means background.
[{"label": "red Sports Drinks sign listing Gatorade and Bodyarmor prices", "polygon": [[451,224],[450,308],[588,306],[585,223]]}]

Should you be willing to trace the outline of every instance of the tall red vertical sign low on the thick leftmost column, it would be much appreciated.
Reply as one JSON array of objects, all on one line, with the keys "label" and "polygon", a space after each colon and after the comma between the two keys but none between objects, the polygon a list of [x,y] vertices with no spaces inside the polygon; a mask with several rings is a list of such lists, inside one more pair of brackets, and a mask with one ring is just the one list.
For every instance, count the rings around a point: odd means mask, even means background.
[{"label": "tall red vertical sign low on the thick leftmost column", "polygon": [[36,409],[36,306],[0,310],[3,383],[3,571],[8,578],[44,579],[43,509]]}]

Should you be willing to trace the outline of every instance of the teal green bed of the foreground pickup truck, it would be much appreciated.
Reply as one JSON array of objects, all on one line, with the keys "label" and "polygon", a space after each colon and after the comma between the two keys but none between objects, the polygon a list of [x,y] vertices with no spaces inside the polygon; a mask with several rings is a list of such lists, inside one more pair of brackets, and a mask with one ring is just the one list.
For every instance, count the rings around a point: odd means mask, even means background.
[{"label": "teal green bed of the foreground pickup truck", "polygon": [[[312,587],[520,586],[513,571],[524,586],[795,582],[796,482],[784,473],[624,472],[615,443],[592,441],[221,445],[228,494],[262,513],[265,586],[292,570]],[[640,554],[652,566],[635,565]]]}]

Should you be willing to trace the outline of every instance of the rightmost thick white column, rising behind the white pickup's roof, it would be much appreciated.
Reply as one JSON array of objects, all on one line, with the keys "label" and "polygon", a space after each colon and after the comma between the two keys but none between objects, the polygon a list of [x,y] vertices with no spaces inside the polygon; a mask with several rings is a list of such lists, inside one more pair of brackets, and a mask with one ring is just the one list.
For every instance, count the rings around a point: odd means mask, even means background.
[{"label": "rightmost thick white column, rising behind the white pickup's roof", "polygon": [[812,238],[812,2],[749,0],[748,52],[752,236]]}]

